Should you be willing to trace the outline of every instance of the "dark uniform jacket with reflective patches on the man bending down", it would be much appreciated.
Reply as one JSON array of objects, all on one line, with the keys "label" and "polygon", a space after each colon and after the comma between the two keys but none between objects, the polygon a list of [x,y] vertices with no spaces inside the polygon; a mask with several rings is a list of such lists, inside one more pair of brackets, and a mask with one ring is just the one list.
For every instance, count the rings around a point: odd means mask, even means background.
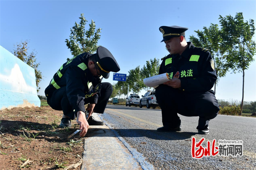
[{"label": "dark uniform jacket with reflective patches on the man bending down", "polygon": [[[89,103],[97,103],[100,93],[95,92],[89,85],[90,82],[94,86],[97,85],[94,84],[95,78],[87,68],[90,56],[90,53],[82,53],[64,63],[45,89],[45,96],[50,98],[55,90],[66,87],[68,100],[75,113],[78,111],[85,113],[85,98],[88,98]],[[89,89],[88,86],[91,88]]]}]

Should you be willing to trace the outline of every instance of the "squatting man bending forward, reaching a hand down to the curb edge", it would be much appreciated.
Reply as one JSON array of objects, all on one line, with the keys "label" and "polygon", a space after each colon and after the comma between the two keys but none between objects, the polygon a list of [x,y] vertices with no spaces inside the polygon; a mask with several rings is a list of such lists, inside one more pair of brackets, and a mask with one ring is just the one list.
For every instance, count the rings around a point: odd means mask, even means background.
[{"label": "squatting man bending forward, reaching a hand down to the curb edge", "polygon": [[[55,110],[63,110],[60,127],[71,127],[71,120],[77,118],[83,137],[89,125],[103,125],[91,116],[93,112],[104,113],[113,92],[110,83],[101,83],[101,76],[108,78],[110,71],[119,70],[114,56],[104,47],[98,47],[93,55],[82,53],[61,65],[45,89],[47,103]],[[86,120],[84,105],[88,103]]]}]

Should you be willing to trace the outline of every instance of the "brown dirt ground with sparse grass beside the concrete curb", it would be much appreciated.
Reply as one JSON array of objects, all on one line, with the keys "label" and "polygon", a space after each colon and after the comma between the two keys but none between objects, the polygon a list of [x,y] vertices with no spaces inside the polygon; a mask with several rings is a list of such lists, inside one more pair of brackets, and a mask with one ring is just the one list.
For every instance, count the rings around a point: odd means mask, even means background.
[{"label": "brown dirt ground with sparse grass beside the concrete curb", "polygon": [[84,138],[64,140],[79,127],[59,128],[61,117],[49,106],[1,110],[0,169],[80,169]]}]

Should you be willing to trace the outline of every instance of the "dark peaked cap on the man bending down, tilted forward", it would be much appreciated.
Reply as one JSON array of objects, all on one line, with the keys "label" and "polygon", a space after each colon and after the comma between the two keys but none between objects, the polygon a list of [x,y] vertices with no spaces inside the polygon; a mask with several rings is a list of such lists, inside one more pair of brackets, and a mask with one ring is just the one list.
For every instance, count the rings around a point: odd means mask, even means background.
[{"label": "dark peaked cap on the man bending down, tilted forward", "polygon": [[100,68],[100,74],[104,78],[109,77],[109,72],[118,72],[120,71],[120,67],[118,63],[116,62],[116,59],[114,56],[108,51],[107,48],[105,47],[98,47],[97,48],[97,53],[93,54],[95,55],[95,60],[96,60],[96,65]]}]

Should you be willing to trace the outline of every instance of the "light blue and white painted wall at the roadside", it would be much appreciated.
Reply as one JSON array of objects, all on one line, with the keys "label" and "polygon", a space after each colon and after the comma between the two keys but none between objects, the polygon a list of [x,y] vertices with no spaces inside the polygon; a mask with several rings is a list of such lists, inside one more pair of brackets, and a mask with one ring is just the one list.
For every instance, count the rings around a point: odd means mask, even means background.
[{"label": "light blue and white painted wall at the roadside", "polygon": [[40,104],[35,70],[0,46],[0,110]]}]

